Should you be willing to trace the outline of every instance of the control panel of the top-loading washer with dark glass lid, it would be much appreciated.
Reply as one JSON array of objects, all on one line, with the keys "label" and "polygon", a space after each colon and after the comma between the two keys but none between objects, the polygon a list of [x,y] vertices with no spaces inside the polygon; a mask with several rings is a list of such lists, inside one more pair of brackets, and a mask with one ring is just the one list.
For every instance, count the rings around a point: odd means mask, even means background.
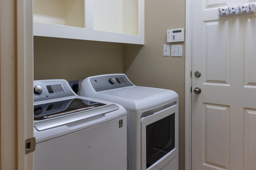
[{"label": "control panel of the top-loading washer with dark glass lid", "polygon": [[34,102],[74,95],[66,80],[34,81]]}]

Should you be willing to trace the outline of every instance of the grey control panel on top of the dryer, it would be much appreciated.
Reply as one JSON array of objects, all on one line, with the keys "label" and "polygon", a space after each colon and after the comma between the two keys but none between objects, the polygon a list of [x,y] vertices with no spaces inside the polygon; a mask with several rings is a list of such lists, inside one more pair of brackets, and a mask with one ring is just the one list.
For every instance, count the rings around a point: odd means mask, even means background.
[{"label": "grey control panel on top of the dryer", "polygon": [[128,78],[123,74],[93,77],[90,78],[90,82],[96,92],[127,86],[134,86],[130,82],[130,80],[128,80]]}]

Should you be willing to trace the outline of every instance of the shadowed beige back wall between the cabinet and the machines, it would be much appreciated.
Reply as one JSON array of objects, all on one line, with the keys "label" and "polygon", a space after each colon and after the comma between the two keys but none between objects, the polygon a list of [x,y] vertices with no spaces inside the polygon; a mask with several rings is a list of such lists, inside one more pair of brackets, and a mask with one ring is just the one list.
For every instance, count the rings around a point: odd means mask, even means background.
[{"label": "shadowed beige back wall between the cabinet and the machines", "polygon": [[123,44],[34,37],[34,80],[123,72]]}]

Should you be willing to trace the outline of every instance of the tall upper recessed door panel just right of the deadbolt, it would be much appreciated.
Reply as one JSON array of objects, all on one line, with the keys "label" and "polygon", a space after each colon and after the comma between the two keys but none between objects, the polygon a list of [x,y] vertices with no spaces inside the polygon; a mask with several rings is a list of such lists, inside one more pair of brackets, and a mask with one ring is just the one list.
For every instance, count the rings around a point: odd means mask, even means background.
[{"label": "tall upper recessed door panel just right of the deadbolt", "polygon": [[[205,22],[205,73],[206,83],[230,83],[230,42],[228,41],[228,21]],[[218,44],[218,49],[216,49]],[[218,67],[216,67],[218,65]]]}]

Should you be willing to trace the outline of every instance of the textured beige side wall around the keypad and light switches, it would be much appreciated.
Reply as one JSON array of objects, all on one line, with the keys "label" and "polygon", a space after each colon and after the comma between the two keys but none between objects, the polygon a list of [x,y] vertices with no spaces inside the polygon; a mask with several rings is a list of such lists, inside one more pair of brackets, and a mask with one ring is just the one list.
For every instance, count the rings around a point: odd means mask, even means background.
[{"label": "textured beige side wall around the keypad and light switches", "polygon": [[[185,27],[185,0],[145,0],[145,45],[124,45],[124,73],[140,86],[179,95],[179,169],[184,170],[185,44],[166,43],[166,30]],[[183,44],[183,57],[163,57],[164,44]]]}]

